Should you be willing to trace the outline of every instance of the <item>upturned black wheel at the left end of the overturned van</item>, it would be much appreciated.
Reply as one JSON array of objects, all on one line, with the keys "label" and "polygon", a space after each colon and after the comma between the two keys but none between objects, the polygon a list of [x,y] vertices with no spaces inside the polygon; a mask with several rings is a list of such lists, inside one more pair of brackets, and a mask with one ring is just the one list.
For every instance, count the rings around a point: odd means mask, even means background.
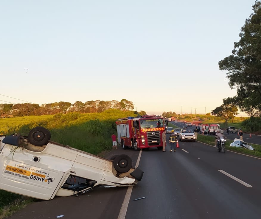
[{"label": "upturned black wheel at the left end of the overturned van", "polygon": [[51,133],[41,126],[33,128],[28,134],[28,141],[35,146],[47,144],[50,138]]}]

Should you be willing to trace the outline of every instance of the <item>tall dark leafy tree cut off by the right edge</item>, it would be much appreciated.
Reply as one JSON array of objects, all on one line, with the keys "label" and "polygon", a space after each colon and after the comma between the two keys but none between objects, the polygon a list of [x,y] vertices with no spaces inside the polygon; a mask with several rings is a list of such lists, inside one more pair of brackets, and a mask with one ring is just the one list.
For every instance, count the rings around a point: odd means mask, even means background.
[{"label": "tall dark leafy tree cut off by the right edge", "polygon": [[252,5],[253,13],[241,28],[232,55],[221,60],[220,70],[228,71],[229,87],[237,89],[230,98],[249,115],[261,115],[261,1]]}]

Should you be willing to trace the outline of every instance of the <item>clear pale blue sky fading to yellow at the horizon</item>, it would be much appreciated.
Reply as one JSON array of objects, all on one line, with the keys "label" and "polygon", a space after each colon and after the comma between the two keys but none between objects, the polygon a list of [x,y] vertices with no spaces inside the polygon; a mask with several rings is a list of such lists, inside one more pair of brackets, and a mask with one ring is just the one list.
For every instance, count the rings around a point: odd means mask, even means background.
[{"label": "clear pale blue sky fading to yellow at the horizon", "polygon": [[0,1],[0,94],[40,105],[127,99],[148,114],[211,112],[236,94],[218,62],[252,4]]}]

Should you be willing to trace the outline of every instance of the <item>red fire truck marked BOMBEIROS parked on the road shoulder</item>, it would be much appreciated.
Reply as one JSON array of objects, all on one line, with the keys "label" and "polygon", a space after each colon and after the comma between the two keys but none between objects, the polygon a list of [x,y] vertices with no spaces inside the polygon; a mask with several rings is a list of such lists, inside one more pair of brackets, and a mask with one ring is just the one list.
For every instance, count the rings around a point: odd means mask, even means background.
[{"label": "red fire truck marked BOMBEIROS parked on the road shoulder", "polygon": [[123,149],[128,147],[139,151],[142,148],[157,147],[162,150],[161,135],[164,132],[164,119],[156,115],[126,117],[116,120],[118,143]]}]

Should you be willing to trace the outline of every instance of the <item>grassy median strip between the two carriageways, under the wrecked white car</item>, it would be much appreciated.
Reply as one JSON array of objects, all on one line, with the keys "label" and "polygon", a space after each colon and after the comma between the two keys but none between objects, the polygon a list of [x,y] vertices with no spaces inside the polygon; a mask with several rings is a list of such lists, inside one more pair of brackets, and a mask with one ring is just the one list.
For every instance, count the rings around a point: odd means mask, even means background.
[{"label": "grassy median strip between the two carriageways, under the wrecked white car", "polygon": [[[180,127],[175,126],[175,125],[170,124],[170,123],[169,123],[169,126],[175,128],[175,129],[180,129]],[[212,146],[215,145],[215,137],[210,136],[210,135],[198,134],[198,141],[212,145]],[[238,152],[238,153],[241,153],[241,154],[248,154],[248,155],[261,157],[261,145],[251,143],[252,147],[255,148],[255,150],[250,151],[246,148],[229,147],[230,143],[232,143],[232,142],[233,142],[232,140],[229,140],[229,139],[226,140],[226,150],[235,151],[235,152]]]}]

